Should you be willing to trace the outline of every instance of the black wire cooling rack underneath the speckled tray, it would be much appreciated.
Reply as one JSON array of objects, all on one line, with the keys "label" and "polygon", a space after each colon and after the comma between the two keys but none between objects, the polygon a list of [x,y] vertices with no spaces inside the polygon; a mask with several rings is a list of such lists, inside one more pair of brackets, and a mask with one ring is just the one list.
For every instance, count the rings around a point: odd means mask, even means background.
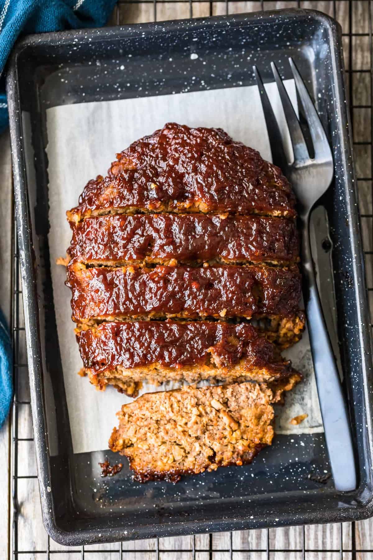
[{"label": "black wire cooling rack underneath the speckled tray", "polygon": [[[343,28],[348,97],[355,148],[356,171],[365,249],[367,284],[373,303],[373,2],[371,0],[120,0],[110,24],[156,21],[181,17],[313,8],[337,18]],[[327,526],[236,531],[150,539],[82,548],[60,547],[45,533],[41,522],[30,389],[27,376],[25,326],[18,269],[15,224],[12,237],[12,333],[15,397],[12,410],[12,530],[11,555],[22,558],[73,560],[368,560],[373,558],[373,520]],[[373,306],[371,305],[371,312]]]}]

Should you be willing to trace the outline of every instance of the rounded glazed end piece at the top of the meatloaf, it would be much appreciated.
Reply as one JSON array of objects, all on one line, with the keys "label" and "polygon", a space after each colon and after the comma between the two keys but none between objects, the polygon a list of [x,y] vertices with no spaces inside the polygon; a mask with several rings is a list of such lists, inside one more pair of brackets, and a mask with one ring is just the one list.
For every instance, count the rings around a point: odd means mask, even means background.
[{"label": "rounded glazed end piece at the top of the meatloaf", "polygon": [[223,130],[171,123],[117,154],[67,216],[135,212],[295,216],[295,197],[278,167]]}]

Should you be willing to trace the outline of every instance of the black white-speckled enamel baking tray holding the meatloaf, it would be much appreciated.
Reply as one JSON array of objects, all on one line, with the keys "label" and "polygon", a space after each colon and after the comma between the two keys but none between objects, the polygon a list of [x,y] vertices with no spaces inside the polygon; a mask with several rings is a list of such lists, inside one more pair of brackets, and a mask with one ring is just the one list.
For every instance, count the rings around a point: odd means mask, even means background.
[{"label": "black white-speckled enamel baking tray holding the meatloaf", "polygon": [[[13,51],[7,95],[32,418],[44,524],[59,543],[372,515],[370,321],[341,45],[336,21],[319,12],[285,10],[34,35]],[[191,53],[199,55],[193,64]],[[330,286],[335,286],[331,296],[337,320],[330,320],[333,305],[327,320],[330,328],[337,324],[336,352],[351,417],[358,488],[339,493],[332,478],[320,483],[329,472],[322,434],[277,436],[252,465],[185,477],[177,486],[133,483],[126,464],[116,477],[100,479],[98,461],[107,456],[116,462],[117,457],[107,450],[72,451],[51,288],[48,197],[53,186],[48,185],[45,111],[62,104],[180,92],[188,80],[189,91],[252,85],[252,64],[265,81],[272,81],[271,60],[286,78],[291,76],[289,55],[316,101],[335,161],[333,185],[317,214],[317,231],[330,236],[333,245],[331,256],[324,256],[332,259],[333,282],[325,278],[324,266],[319,281],[329,301]],[[62,81],[61,76],[69,79]],[[146,87],[139,90],[140,84]],[[243,118],[252,118],[249,108]],[[96,141],[94,135],[89,141]],[[316,249],[325,247],[329,244],[322,244],[319,235]]]}]

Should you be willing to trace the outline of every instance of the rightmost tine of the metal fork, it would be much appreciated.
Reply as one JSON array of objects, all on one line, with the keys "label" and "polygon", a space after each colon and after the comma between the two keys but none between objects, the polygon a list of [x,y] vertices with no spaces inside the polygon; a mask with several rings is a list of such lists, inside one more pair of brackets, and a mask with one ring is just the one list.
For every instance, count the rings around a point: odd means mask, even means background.
[{"label": "rightmost tine of the metal fork", "polygon": [[289,58],[289,63],[308,122],[308,128],[315,151],[315,158],[330,158],[332,157],[332,152],[330,151],[328,138],[325,134],[323,125],[321,124],[317,110],[315,109],[308,90],[304,85],[304,81],[298,72],[298,68],[295,66],[294,60],[291,57]]}]

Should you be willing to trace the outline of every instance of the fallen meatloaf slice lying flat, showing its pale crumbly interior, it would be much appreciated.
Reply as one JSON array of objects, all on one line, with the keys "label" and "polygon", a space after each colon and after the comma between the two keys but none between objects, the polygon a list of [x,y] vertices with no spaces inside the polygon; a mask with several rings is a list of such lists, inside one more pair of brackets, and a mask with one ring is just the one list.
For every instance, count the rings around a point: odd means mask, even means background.
[{"label": "fallen meatloaf slice lying flat, showing its pale crumbly interior", "polygon": [[250,463],[272,443],[279,392],[242,383],[148,393],[122,406],[108,445],[128,457],[138,482]]}]

